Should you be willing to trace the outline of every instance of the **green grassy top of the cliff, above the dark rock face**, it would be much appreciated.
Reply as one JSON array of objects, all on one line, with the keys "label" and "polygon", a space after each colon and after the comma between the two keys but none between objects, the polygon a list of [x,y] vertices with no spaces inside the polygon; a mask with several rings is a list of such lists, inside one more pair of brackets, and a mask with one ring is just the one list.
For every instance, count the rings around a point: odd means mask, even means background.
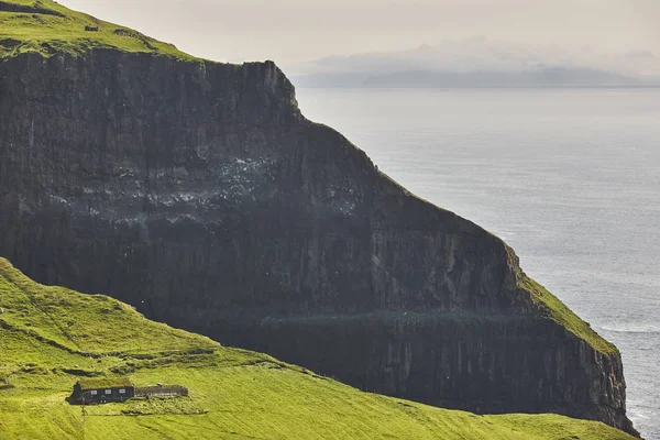
[{"label": "green grassy top of the cliff, above the dark rock face", "polygon": [[[123,6],[118,3],[118,7]],[[125,7],[130,7],[130,2]],[[72,11],[52,0],[0,0],[0,58],[25,52],[45,56],[81,54],[92,47],[193,59],[172,44]]]}]

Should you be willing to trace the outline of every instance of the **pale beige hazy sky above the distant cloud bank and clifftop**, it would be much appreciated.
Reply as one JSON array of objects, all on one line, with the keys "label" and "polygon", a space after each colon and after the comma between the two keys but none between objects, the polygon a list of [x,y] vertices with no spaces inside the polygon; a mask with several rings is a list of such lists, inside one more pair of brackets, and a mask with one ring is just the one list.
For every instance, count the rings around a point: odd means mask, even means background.
[{"label": "pale beige hazy sky above the distant cloud bank and clifftop", "polygon": [[194,55],[287,65],[485,35],[660,55],[660,0],[61,0]]}]

